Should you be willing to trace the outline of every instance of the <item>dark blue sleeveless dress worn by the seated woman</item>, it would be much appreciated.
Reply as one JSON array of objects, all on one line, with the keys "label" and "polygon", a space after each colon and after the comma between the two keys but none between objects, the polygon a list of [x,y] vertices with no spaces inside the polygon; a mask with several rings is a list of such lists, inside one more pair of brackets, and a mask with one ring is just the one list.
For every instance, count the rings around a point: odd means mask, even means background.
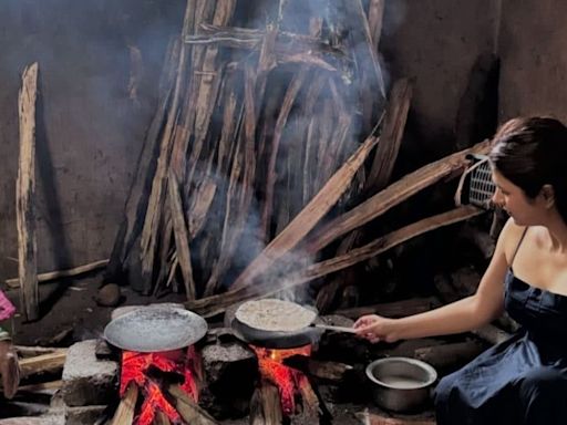
[{"label": "dark blue sleeveless dress worn by the seated woman", "polygon": [[511,269],[505,308],[520,330],[440,381],[437,425],[567,424],[567,297]]}]

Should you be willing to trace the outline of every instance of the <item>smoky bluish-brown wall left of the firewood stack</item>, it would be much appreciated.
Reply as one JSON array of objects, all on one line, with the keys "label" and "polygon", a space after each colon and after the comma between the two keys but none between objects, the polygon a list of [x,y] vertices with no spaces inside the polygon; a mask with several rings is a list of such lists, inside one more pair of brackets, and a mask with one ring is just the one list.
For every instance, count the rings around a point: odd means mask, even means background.
[{"label": "smoky bluish-brown wall left of the firewood stack", "polygon": [[0,278],[17,273],[18,91],[24,66],[38,62],[40,70],[38,269],[107,258],[153,114],[168,35],[183,19],[176,4],[0,2]]}]

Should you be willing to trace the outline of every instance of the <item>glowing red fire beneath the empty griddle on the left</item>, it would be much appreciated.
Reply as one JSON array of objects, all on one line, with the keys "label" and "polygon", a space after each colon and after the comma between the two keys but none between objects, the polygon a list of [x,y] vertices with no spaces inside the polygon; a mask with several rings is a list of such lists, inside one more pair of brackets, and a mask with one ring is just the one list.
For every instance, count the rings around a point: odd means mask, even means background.
[{"label": "glowing red fire beneath the empty griddle on the left", "polygon": [[131,382],[135,382],[142,388],[144,403],[137,417],[137,425],[153,423],[157,410],[164,412],[173,423],[181,423],[181,416],[174,406],[165,398],[159,384],[148,376],[151,366],[163,372],[175,372],[184,377],[182,388],[195,401],[198,401],[196,373],[198,356],[193,346],[183,350],[174,350],[158,353],[138,353],[123,351],[122,372],[120,377],[120,395],[124,393]]}]

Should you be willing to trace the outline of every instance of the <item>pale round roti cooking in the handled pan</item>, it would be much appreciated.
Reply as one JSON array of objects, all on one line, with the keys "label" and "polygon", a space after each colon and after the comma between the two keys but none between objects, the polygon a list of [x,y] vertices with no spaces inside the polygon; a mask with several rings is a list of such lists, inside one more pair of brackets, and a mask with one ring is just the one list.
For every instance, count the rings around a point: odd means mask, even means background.
[{"label": "pale round roti cooking in the handled pan", "polygon": [[243,303],[235,315],[241,323],[260,331],[293,332],[311,324],[317,312],[295,302],[268,298]]}]

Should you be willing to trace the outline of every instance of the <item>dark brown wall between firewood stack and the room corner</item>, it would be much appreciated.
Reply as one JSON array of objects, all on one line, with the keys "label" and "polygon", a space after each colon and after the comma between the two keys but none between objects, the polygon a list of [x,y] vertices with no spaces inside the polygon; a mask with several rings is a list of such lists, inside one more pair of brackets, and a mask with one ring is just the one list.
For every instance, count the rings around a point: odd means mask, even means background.
[{"label": "dark brown wall between firewood stack and the room corner", "polygon": [[402,148],[422,162],[454,149],[456,113],[473,64],[494,51],[496,3],[385,1],[380,50],[390,80],[415,80],[406,126],[411,139]]}]

